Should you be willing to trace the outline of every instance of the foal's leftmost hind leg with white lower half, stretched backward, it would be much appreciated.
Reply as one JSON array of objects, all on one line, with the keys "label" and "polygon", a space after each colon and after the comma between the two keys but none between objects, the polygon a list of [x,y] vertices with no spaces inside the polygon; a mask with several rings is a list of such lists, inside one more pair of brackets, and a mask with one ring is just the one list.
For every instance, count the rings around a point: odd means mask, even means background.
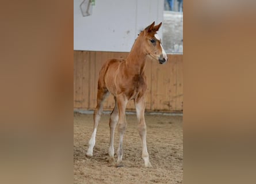
[{"label": "foal's leftmost hind leg with white lower half, stretched backward", "polygon": [[95,139],[96,139],[96,132],[97,132],[97,127],[98,123],[101,118],[101,113],[103,111],[103,102],[106,97],[108,97],[108,90],[107,89],[98,89],[97,93],[97,107],[94,110],[94,124],[93,124],[93,134],[91,135],[91,139],[89,140],[89,147],[86,152],[86,156],[93,156],[93,147],[95,145]]}]

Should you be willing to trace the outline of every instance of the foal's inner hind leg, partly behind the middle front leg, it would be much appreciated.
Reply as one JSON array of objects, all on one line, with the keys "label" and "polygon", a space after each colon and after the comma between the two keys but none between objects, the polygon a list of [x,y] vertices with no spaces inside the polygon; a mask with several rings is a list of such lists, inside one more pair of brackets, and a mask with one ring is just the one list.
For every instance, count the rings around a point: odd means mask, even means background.
[{"label": "foal's inner hind leg, partly behind the middle front leg", "polygon": [[109,129],[110,129],[110,141],[109,141],[109,156],[112,162],[114,161],[114,129],[116,128],[117,121],[119,120],[119,111],[117,107],[116,97],[114,97],[115,105],[112,113],[110,114]]}]

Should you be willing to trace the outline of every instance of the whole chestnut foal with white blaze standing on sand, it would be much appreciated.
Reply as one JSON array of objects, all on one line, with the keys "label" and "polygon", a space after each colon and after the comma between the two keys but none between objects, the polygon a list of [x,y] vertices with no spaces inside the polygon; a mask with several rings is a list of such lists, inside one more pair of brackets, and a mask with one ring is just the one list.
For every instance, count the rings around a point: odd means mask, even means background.
[{"label": "whole chestnut foal with white blaze standing on sand", "polygon": [[152,167],[146,144],[147,130],[144,111],[147,80],[144,70],[148,56],[153,60],[157,60],[160,64],[167,62],[167,55],[161,45],[161,39],[156,33],[161,25],[162,22],[156,26],[155,22],[153,22],[140,32],[126,60],[110,59],[102,66],[98,79],[97,107],[94,110],[94,129],[89,141],[87,156],[93,156],[93,147],[95,145],[98,122],[103,110],[103,102],[108,94],[111,93],[114,95],[115,105],[109,120],[110,143],[108,153],[110,159],[114,160],[114,129],[118,125],[120,137],[116,166],[123,166],[123,137],[127,127],[125,108],[127,102],[133,99],[139,121],[139,135],[142,139],[142,158],[144,159],[145,167]]}]

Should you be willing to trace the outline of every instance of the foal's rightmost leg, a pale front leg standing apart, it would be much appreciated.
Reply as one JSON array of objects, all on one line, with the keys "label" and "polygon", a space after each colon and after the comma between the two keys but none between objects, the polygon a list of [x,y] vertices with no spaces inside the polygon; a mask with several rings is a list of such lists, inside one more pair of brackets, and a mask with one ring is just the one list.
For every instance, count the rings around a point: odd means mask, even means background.
[{"label": "foal's rightmost leg, a pale front leg standing apart", "polygon": [[134,103],[136,107],[137,119],[139,121],[139,125],[138,125],[139,134],[140,134],[140,138],[142,139],[142,158],[144,160],[145,167],[152,167],[149,160],[148,152],[147,152],[147,141],[146,141],[147,127],[146,127],[146,122],[144,117],[146,104],[145,104],[144,97],[135,99]]}]

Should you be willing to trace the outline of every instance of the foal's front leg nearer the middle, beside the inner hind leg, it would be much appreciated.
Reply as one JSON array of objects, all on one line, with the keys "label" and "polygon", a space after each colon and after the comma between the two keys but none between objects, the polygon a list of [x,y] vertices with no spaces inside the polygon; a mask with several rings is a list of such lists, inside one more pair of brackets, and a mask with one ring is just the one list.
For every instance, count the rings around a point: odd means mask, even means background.
[{"label": "foal's front leg nearer the middle, beside the inner hind leg", "polygon": [[123,166],[123,138],[124,132],[127,126],[126,119],[125,119],[125,108],[127,105],[128,100],[119,95],[116,97],[117,106],[119,109],[119,121],[118,121],[118,130],[119,130],[119,147],[117,149],[117,167]]}]

